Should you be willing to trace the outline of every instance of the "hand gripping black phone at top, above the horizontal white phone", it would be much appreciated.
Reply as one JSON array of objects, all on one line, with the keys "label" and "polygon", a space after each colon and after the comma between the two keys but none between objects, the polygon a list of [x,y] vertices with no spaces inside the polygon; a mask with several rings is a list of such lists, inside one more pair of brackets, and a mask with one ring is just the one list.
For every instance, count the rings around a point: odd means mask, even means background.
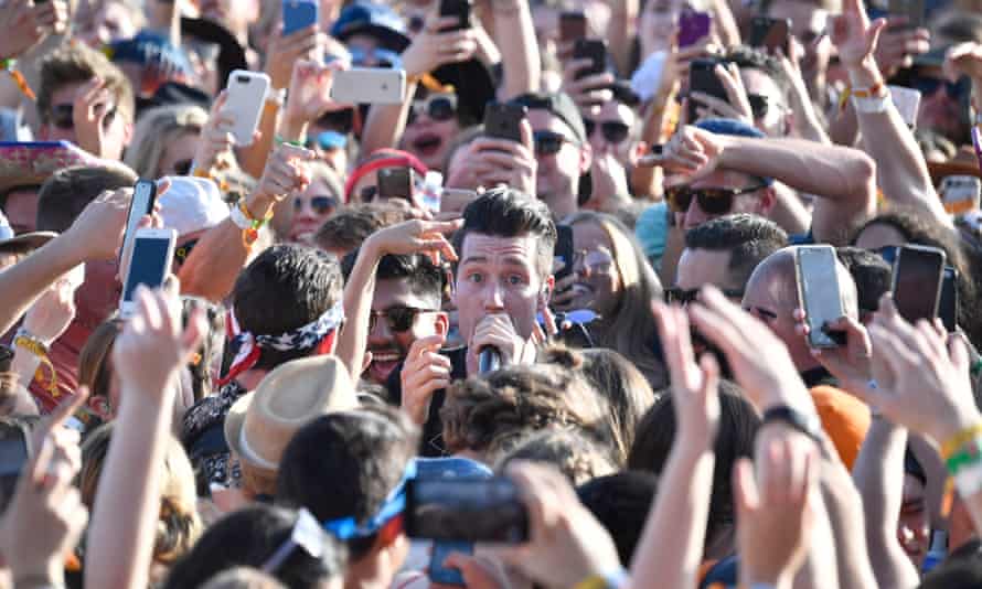
[{"label": "hand gripping black phone at top, above the horizontal white phone", "polygon": [[471,29],[444,31],[458,24],[457,17],[440,17],[430,12],[423,30],[403,52],[406,76],[428,74],[437,67],[470,60],[478,49]]}]

